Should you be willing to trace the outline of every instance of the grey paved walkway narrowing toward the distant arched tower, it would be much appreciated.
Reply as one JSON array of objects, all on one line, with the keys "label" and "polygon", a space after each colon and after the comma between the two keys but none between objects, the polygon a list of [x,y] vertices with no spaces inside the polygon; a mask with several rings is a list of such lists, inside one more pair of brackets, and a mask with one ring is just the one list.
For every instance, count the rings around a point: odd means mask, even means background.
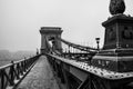
[{"label": "grey paved walkway narrowing toward the distant arched tower", "polygon": [[42,56],[17,89],[60,89],[60,87],[47,58]]}]

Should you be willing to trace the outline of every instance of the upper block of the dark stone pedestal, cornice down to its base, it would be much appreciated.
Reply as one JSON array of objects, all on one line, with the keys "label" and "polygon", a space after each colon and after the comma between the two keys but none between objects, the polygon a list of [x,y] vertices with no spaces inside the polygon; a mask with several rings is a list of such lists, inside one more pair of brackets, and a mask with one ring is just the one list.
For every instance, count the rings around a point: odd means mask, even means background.
[{"label": "upper block of the dark stone pedestal, cornice down to its base", "polygon": [[133,17],[117,14],[102,26],[105,27],[103,49],[133,48]]}]

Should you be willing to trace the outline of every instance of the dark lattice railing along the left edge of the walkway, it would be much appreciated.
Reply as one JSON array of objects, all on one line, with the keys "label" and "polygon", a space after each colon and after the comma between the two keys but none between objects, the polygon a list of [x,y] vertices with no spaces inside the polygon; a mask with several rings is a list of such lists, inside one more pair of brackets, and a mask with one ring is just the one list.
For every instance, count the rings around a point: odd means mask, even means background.
[{"label": "dark lattice railing along the left edge of the walkway", "polygon": [[40,55],[0,67],[0,89],[14,87],[33,67]]}]

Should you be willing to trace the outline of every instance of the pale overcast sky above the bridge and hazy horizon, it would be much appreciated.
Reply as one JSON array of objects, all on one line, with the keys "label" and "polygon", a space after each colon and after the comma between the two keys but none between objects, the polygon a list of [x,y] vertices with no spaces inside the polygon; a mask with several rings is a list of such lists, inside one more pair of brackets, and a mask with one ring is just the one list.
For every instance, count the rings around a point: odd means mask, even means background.
[{"label": "pale overcast sky above the bridge and hazy horizon", "polygon": [[[61,27],[62,38],[95,47],[103,43],[103,21],[111,17],[110,0],[0,0],[0,49],[35,50],[41,47],[40,27]],[[125,0],[133,16],[133,0]]]}]

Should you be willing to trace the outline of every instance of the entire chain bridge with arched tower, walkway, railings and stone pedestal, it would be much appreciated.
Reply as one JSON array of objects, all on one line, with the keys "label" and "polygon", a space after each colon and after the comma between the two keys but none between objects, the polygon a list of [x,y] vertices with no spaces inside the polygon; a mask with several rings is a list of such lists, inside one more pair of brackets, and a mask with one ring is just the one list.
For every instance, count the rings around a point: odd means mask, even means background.
[{"label": "entire chain bridge with arched tower, walkway, railings and stone pedestal", "polygon": [[[102,22],[103,48],[99,48],[100,38],[98,48],[92,48],[62,39],[60,27],[42,27],[41,52],[0,67],[0,89],[25,89],[23,83],[32,86],[27,89],[50,89],[44,87],[50,73],[59,89],[133,89],[133,17],[123,13],[124,0],[114,1],[110,3],[112,17]],[[39,83],[34,86],[35,79]],[[51,89],[58,89],[57,85]]]}]

